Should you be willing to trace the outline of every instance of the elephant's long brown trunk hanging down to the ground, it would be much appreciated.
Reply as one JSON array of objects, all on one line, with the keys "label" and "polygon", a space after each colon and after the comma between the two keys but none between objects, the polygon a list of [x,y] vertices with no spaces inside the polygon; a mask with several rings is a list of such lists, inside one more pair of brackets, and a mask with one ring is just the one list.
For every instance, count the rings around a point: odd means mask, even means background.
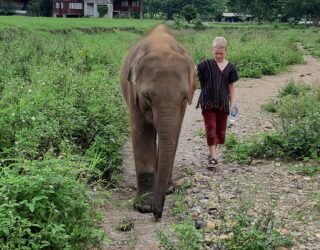
[{"label": "elephant's long brown trunk hanging down to the ground", "polygon": [[156,219],[162,217],[162,211],[168,188],[169,176],[172,172],[179,134],[184,112],[171,110],[159,117],[158,128],[158,168],[154,186],[152,203],[153,215]]}]

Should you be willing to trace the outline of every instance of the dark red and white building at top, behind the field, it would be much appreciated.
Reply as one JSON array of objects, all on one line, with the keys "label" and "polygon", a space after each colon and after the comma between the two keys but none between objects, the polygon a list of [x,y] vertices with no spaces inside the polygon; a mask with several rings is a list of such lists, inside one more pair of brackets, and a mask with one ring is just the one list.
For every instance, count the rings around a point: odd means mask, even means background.
[{"label": "dark red and white building at top, behind the field", "polygon": [[141,11],[139,0],[53,0],[54,17],[133,17]]}]

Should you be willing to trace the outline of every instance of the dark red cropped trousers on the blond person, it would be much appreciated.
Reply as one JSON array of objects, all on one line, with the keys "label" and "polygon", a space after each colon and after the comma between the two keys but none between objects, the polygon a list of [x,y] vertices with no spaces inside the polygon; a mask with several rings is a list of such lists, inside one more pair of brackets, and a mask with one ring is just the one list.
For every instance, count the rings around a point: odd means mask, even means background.
[{"label": "dark red cropped trousers on the blond person", "polygon": [[213,109],[202,111],[208,146],[224,144],[226,139],[228,113]]}]

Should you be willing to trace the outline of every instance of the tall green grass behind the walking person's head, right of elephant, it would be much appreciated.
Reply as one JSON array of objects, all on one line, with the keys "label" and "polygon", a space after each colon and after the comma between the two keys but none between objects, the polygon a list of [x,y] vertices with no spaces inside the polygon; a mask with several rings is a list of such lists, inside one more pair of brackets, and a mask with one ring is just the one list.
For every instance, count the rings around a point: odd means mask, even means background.
[{"label": "tall green grass behind the walking person's head, right of elephant", "polygon": [[302,63],[302,52],[296,47],[299,31],[264,29],[224,29],[218,27],[190,35],[179,36],[195,62],[212,57],[211,44],[215,36],[229,41],[227,58],[235,62],[241,77],[261,77],[287,70],[289,65]]}]

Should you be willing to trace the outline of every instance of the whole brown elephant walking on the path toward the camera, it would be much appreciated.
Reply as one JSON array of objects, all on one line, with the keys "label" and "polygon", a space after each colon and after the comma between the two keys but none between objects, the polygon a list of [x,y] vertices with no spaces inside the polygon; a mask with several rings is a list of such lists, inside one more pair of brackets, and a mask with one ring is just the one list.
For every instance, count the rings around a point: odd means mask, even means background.
[{"label": "whole brown elephant walking on the path toward the camera", "polygon": [[162,217],[187,103],[196,88],[192,57],[163,24],[134,45],[120,70],[137,177],[134,208]]}]

